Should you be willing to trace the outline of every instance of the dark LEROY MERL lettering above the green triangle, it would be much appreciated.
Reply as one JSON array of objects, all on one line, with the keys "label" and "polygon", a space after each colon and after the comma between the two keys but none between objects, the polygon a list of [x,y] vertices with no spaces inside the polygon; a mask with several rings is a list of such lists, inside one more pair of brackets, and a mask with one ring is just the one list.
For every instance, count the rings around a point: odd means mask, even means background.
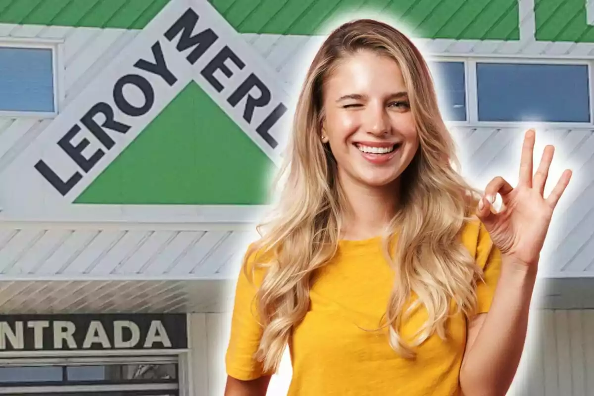
[{"label": "dark LEROY MERL lettering above the green triangle", "polygon": [[[168,64],[175,59],[166,59],[162,46],[170,45],[176,41],[176,49],[179,52],[189,50],[186,56],[187,61],[194,65],[202,56],[208,57],[208,63],[201,68],[200,74],[211,85],[217,93],[222,93],[225,88],[221,74],[226,78],[232,77],[236,72],[241,72],[246,64],[228,45],[223,46],[218,52],[212,50],[214,43],[219,40],[215,27],[208,27],[205,21],[198,33],[194,33],[200,16],[189,8],[182,14],[175,23],[172,24],[163,34],[163,39],[157,40],[151,46],[152,59],[138,59],[134,63],[135,71],[122,75],[115,84],[113,84],[113,102],[115,106],[106,102],[97,102],[81,116],[80,121],[69,128],[68,132],[59,138],[58,147],[76,164],[77,169],[70,175],[60,176],[46,163],[40,159],[35,164],[35,169],[41,173],[43,178],[62,195],[66,195],[94,166],[105,156],[106,151],[111,150],[116,141],[112,138],[114,134],[126,134],[131,128],[130,123],[122,121],[122,115],[130,118],[142,117],[151,110],[156,100],[155,96],[159,89],[155,89],[153,84],[146,77],[146,74],[159,76],[162,81],[172,87],[178,83],[176,77]],[[217,76],[218,74],[218,76]],[[270,134],[272,126],[286,113],[287,107],[271,94],[270,88],[258,77],[255,72],[251,72],[242,78],[242,81],[233,87],[230,94],[225,95],[225,100],[233,108],[237,108],[242,113],[242,118],[249,126],[255,128],[255,132],[270,146],[271,149],[277,147],[278,142]],[[141,93],[140,104],[133,103],[131,94],[125,91],[125,88],[135,87]],[[128,94],[127,94],[128,92]],[[138,102],[138,101],[137,101]],[[274,106],[270,109],[270,104]],[[263,107],[267,107],[266,110]],[[261,112],[263,117],[255,121],[254,113]],[[122,114],[123,113],[123,114]],[[99,121],[100,120],[100,121]],[[134,122],[133,120],[131,120]],[[78,134],[81,132],[81,125],[86,128],[101,147],[89,150],[90,141],[87,138],[81,138]],[[76,143],[74,141],[77,141]],[[87,151],[87,154],[84,152]]]}]

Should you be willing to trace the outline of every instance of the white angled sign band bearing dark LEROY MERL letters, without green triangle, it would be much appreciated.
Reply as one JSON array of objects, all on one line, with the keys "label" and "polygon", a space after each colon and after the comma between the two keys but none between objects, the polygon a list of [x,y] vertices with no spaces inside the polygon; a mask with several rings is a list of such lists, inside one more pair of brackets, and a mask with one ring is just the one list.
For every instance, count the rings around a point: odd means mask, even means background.
[{"label": "white angled sign band bearing dark LEROY MERL letters, without green triangle", "polygon": [[10,180],[0,180],[7,191],[2,202],[15,199],[15,207],[31,210],[72,202],[192,83],[280,161],[288,96],[276,73],[208,2],[178,0],[4,172]]}]

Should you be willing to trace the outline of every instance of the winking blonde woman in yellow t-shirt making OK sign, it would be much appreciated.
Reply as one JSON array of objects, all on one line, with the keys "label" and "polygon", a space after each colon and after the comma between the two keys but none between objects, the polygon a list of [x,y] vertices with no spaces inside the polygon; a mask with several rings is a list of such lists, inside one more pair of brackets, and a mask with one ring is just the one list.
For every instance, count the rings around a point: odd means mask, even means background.
[{"label": "winking blonde woman in yellow t-shirt making OK sign", "polygon": [[[484,195],[454,171],[421,53],[372,20],[321,46],[296,108],[276,217],[239,275],[226,395],[265,395],[288,344],[289,395],[504,395],[539,252],[571,172]],[[492,209],[500,194],[504,205]]]}]

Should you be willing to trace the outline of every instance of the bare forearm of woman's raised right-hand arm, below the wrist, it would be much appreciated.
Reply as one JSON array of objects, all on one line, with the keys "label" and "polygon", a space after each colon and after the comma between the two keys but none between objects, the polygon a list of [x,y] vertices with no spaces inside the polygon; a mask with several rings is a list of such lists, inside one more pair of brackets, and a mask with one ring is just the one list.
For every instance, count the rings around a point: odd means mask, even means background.
[{"label": "bare forearm of woman's raised right-hand arm, below the wrist", "polygon": [[528,313],[536,281],[536,265],[501,257],[501,275],[491,309],[469,324],[460,369],[465,395],[504,396],[522,357]]}]

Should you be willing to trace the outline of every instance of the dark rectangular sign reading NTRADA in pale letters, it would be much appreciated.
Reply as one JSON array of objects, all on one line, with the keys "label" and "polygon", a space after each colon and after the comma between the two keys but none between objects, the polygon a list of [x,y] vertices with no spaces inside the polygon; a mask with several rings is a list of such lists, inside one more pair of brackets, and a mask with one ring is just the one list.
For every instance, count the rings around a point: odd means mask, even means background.
[{"label": "dark rectangular sign reading NTRADA in pale letters", "polygon": [[186,316],[0,315],[0,351],[183,349]]}]

